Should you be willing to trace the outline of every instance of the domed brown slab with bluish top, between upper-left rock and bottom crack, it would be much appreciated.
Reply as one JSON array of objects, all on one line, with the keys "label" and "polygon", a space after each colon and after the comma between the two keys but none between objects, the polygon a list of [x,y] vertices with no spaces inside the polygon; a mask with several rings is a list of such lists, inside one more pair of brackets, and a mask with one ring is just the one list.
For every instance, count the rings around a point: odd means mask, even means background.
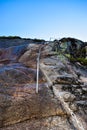
[{"label": "domed brown slab with bluish top, between upper-left rock and bottom crack", "polygon": [[66,114],[45,86],[43,76],[40,74],[39,94],[35,93],[35,81],[36,70],[21,63],[0,67],[0,127],[31,118]]}]

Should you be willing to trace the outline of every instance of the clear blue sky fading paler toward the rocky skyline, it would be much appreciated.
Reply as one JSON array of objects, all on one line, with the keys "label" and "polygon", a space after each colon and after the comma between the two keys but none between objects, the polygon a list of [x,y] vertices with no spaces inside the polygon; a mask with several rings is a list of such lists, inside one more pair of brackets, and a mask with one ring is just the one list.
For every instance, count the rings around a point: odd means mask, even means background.
[{"label": "clear blue sky fading paler toward the rocky skyline", "polygon": [[0,36],[87,41],[87,0],[0,0]]}]

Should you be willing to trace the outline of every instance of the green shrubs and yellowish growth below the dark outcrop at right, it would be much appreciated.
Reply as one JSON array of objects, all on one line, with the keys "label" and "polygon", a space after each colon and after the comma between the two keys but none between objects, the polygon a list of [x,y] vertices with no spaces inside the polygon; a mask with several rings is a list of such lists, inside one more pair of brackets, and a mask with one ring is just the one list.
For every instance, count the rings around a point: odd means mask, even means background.
[{"label": "green shrubs and yellowish growth below the dark outcrop at right", "polygon": [[68,58],[71,62],[79,62],[82,65],[87,65],[87,58],[86,58],[86,48],[83,47],[78,50],[72,50],[73,54],[69,54],[68,52],[65,52],[67,44],[62,44],[61,48],[63,49],[57,49],[55,48],[55,54],[60,57],[60,59],[63,61],[64,57]]}]

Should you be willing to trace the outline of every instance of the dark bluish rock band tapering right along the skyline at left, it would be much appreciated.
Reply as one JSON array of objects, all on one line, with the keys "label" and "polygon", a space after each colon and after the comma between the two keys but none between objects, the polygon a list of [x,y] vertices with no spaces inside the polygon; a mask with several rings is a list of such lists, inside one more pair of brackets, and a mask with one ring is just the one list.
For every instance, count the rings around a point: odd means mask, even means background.
[{"label": "dark bluish rock band tapering right along the skyline at left", "polygon": [[12,46],[20,46],[20,45],[28,45],[31,43],[35,44],[42,44],[44,43],[44,40],[39,40],[39,39],[29,39],[29,38],[21,38],[18,36],[0,36],[0,48],[8,48]]}]

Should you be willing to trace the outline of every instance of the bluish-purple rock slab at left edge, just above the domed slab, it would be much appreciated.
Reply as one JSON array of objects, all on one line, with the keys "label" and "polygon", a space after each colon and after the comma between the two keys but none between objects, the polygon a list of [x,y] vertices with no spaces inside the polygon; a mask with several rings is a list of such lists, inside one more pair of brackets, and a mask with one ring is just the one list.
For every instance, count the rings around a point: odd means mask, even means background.
[{"label": "bluish-purple rock slab at left edge, just above the domed slab", "polygon": [[18,58],[27,50],[28,45],[12,46],[0,49],[0,63],[17,62]]}]

